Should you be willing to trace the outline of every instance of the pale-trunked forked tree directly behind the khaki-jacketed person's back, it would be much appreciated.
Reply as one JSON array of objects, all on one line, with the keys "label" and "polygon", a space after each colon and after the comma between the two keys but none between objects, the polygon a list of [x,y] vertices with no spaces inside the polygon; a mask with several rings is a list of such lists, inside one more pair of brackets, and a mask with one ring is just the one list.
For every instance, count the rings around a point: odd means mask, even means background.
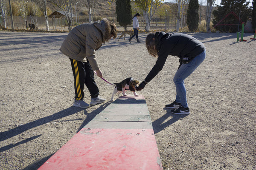
[{"label": "pale-trunked forked tree directly behind the khaki-jacketed person's back", "polygon": [[57,6],[61,11],[64,12],[67,19],[68,31],[72,29],[73,23],[73,8],[76,6],[78,0],[49,0],[53,5]]}]

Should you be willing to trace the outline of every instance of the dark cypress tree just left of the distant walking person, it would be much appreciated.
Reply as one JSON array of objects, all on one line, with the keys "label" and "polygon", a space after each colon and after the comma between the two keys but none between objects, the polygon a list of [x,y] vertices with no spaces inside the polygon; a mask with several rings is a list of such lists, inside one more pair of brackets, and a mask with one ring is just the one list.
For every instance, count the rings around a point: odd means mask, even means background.
[{"label": "dark cypress tree just left of the distant walking person", "polygon": [[131,25],[131,0],[116,0],[116,20],[125,30]]}]

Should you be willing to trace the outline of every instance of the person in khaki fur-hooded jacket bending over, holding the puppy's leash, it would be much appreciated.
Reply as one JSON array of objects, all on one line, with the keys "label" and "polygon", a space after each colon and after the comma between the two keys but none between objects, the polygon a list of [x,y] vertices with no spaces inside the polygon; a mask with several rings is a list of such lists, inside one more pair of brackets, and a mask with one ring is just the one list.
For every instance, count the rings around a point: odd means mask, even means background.
[{"label": "person in khaki fur-hooded jacket bending over, holding the puppy's leash", "polygon": [[[105,102],[99,96],[99,88],[94,81],[96,71],[99,77],[103,77],[102,71],[96,61],[95,51],[102,43],[117,36],[116,25],[107,19],[94,23],[84,23],[73,28],[61,45],[60,51],[70,58],[74,75],[75,101],[73,106],[88,108],[90,105]],[[84,102],[84,84],[91,96],[90,105]]]}]

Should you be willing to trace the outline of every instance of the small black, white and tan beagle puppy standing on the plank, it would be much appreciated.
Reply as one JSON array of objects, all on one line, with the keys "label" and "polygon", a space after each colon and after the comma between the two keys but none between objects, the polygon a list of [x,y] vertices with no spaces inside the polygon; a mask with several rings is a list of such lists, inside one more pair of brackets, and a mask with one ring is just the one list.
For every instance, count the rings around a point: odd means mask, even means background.
[{"label": "small black, white and tan beagle puppy standing on the plank", "polygon": [[130,90],[134,92],[134,96],[139,96],[136,93],[136,88],[139,87],[140,82],[138,80],[134,80],[133,78],[129,77],[127,79],[124,79],[122,82],[119,83],[113,83],[114,85],[116,85],[116,87],[114,88],[112,97],[111,97],[111,102],[113,102],[113,97],[114,95],[117,93],[118,96],[120,97],[120,93],[123,94],[123,96],[127,96],[127,94],[125,94],[125,91]]}]

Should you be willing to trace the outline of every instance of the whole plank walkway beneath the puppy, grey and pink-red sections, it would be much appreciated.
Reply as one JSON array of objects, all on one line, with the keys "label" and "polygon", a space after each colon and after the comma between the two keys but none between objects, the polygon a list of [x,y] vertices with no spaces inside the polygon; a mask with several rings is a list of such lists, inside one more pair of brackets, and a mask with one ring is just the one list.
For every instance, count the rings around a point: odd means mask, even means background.
[{"label": "whole plank walkway beneath the puppy, grey and pink-red sections", "polygon": [[143,96],[122,96],[38,170],[163,170]]}]

